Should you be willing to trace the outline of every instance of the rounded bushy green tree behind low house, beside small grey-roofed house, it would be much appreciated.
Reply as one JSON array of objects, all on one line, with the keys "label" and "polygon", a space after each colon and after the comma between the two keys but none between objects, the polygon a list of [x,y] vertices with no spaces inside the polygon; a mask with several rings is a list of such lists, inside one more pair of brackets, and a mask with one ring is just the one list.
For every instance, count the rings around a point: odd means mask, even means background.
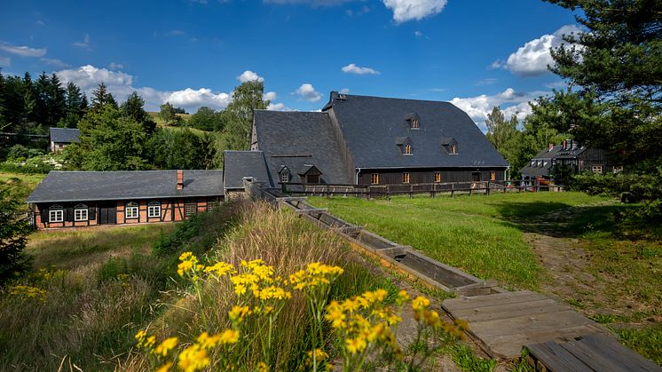
[{"label": "rounded bushy green tree behind low house, beside small grey-roofed house", "polygon": [[148,136],[141,123],[113,105],[93,109],[78,123],[80,142],[65,148],[68,166],[79,170],[146,170]]}]

